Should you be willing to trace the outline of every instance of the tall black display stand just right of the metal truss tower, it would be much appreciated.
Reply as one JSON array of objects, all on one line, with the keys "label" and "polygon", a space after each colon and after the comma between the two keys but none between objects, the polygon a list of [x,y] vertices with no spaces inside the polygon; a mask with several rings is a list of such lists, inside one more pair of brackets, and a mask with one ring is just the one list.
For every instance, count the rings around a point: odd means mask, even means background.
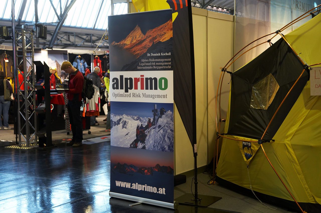
[{"label": "tall black display stand just right of the metal truss tower", "polygon": [[[40,103],[43,102],[43,96],[45,108],[36,108],[36,112],[38,114],[38,127],[36,131],[36,135],[38,136],[39,147],[52,147],[52,133],[51,133],[51,104],[50,104],[50,75],[49,67],[44,62],[34,61],[36,65],[36,82],[40,79],[44,79],[44,85],[37,85],[37,107]],[[43,88],[43,86],[45,88]]]}]

